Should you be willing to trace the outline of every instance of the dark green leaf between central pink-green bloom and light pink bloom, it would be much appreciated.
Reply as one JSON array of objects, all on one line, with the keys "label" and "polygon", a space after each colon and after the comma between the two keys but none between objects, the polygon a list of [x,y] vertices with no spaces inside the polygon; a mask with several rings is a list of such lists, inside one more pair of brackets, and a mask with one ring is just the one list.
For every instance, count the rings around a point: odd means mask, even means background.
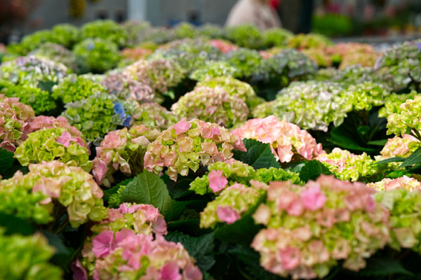
[{"label": "dark green leaf between central pink-green bloom and light pink bloom", "polygon": [[279,162],[270,150],[269,144],[264,144],[255,139],[243,139],[247,152],[233,151],[234,158],[240,160],[254,169],[276,167],[280,168]]}]

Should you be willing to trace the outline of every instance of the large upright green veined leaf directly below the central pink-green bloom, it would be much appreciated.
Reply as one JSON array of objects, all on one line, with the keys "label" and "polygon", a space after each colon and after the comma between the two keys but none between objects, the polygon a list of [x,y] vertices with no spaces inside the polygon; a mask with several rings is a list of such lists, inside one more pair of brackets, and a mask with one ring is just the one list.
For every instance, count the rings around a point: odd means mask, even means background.
[{"label": "large upright green veined leaf directly below the central pink-green bloom", "polygon": [[[173,216],[175,209],[175,203],[171,199],[170,193],[168,193],[166,184],[163,183],[163,180],[158,175],[147,170],[135,176],[133,181],[127,184],[121,193],[121,201],[152,204],[167,219]],[[179,210],[180,207],[178,207]]]}]

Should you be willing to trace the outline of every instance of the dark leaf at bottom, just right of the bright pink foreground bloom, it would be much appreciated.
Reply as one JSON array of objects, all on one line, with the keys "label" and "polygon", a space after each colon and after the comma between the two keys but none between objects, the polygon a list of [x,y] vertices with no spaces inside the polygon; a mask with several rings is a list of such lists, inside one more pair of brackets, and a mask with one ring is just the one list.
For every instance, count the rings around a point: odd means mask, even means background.
[{"label": "dark leaf at bottom, just right of the bright pink foreground bloom", "polygon": [[173,242],[180,242],[189,252],[196,265],[199,266],[202,272],[206,272],[215,264],[215,239],[214,233],[210,232],[201,237],[190,237],[183,235],[181,232],[170,232],[165,239]]}]

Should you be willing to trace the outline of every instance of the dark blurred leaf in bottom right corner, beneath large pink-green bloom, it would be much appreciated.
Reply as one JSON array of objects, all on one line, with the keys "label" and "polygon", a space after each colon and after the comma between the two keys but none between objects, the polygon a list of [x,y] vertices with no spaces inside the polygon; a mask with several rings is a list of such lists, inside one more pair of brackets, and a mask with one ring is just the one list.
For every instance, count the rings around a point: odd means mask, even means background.
[{"label": "dark blurred leaf in bottom right corner, beneath large pink-green bloom", "polygon": [[[404,274],[412,276],[413,273],[405,269],[401,262],[395,258],[374,256],[367,260],[367,266],[356,272],[360,276],[390,276],[393,274]],[[392,279],[392,278],[391,278]]]}]

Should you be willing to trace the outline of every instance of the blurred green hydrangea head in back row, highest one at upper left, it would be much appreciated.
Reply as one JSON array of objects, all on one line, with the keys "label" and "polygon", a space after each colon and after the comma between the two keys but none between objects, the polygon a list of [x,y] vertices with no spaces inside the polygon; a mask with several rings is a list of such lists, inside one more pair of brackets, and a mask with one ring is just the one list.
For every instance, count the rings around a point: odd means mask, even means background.
[{"label": "blurred green hydrangea head in back row, highest one at upper left", "polygon": [[83,25],[81,37],[83,39],[100,38],[123,47],[127,43],[128,34],[126,29],[112,20],[95,20]]}]

